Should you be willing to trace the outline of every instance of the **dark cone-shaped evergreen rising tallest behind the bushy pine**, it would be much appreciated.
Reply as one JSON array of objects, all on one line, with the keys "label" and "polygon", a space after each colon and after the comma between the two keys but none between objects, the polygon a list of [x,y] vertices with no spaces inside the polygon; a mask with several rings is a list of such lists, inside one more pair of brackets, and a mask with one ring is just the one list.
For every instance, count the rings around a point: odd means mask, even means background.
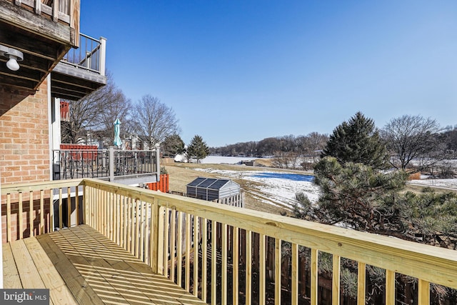
[{"label": "dark cone-shaped evergreen rising tallest behind the bushy pine", "polygon": [[386,145],[381,141],[374,121],[361,112],[333,130],[322,156],[333,156],[341,164],[361,163],[374,169],[384,168],[388,161]]}]

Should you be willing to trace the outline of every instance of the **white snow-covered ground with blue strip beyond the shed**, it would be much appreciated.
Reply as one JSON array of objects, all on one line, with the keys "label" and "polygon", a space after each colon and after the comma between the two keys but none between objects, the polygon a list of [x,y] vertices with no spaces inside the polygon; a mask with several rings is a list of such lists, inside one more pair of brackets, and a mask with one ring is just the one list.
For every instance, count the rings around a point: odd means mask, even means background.
[{"label": "white snow-covered ground with blue strip beyond the shed", "polygon": [[[202,160],[204,164],[238,164],[241,160],[252,160],[246,157],[208,156]],[[258,200],[290,209],[296,202],[295,196],[303,191],[312,202],[316,202],[320,194],[318,186],[313,184],[313,176],[296,174],[288,171],[250,170],[248,166],[240,166],[239,171],[220,169],[196,169],[198,171],[217,174],[221,178],[243,179],[253,181],[251,195]],[[245,190],[246,191],[246,190]]]}]

